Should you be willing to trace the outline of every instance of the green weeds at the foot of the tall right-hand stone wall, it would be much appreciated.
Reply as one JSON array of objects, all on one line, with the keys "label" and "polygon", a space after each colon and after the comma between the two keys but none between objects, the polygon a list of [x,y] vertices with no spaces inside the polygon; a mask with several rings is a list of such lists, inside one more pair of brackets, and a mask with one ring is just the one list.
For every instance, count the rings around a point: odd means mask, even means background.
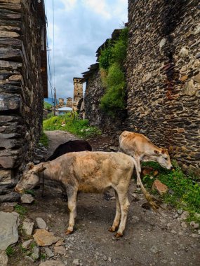
[{"label": "green weeds at the foot of the tall right-hand stone wall", "polygon": [[[178,209],[189,211],[189,219],[200,222],[200,217],[195,215],[200,214],[199,183],[194,181],[190,176],[186,176],[175,162],[173,162],[173,171],[162,168],[156,162],[145,162],[142,165],[158,170],[159,175],[156,177],[168,186],[169,191],[163,196],[164,202]],[[145,176],[143,182],[147,188],[151,188],[154,179],[151,179],[150,176]]]}]

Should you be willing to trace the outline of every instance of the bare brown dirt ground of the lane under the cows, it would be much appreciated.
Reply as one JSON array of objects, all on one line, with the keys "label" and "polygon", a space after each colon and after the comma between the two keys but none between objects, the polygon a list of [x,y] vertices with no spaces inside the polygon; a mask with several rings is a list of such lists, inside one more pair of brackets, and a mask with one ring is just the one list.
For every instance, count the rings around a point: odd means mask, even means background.
[{"label": "bare brown dirt ground of the lane under the cows", "polygon": [[[50,139],[48,155],[56,146],[69,139],[76,139],[67,132],[46,132]],[[98,141],[94,149],[102,144]],[[135,202],[133,193],[137,193]],[[114,191],[109,191],[114,196]],[[131,206],[128,212],[128,221],[124,237],[115,239],[114,234],[107,229],[114,220],[115,200],[109,200],[104,195],[84,194],[78,195],[76,230],[72,235],[65,235],[69,212],[67,203],[62,201],[62,193],[58,189],[45,186],[45,196],[41,197],[41,190],[36,190],[35,204],[28,205],[27,215],[35,221],[41,217],[46,221],[48,229],[55,236],[65,241],[66,254],[55,255],[53,259],[60,258],[65,265],[73,265],[75,259],[83,266],[152,266],[152,265],[200,265],[200,244],[197,230],[193,231],[187,226],[182,228],[182,221],[176,210],[166,207],[161,215],[152,210],[143,209],[146,202],[140,191],[131,181],[129,200]],[[175,215],[176,214],[176,215]],[[53,250],[53,246],[50,247]],[[41,248],[43,252],[43,248]],[[76,260],[77,261],[77,260]],[[39,265],[38,262],[29,262],[21,255],[11,257],[8,266]],[[74,264],[75,265],[75,264]]]}]

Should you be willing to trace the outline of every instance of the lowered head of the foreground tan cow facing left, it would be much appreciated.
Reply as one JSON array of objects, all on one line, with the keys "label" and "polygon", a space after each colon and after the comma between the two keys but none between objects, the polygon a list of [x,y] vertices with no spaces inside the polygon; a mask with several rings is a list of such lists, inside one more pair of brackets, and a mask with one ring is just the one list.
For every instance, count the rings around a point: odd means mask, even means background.
[{"label": "lowered head of the foreground tan cow facing left", "polygon": [[33,163],[29,163],[17,186],[15,186],[15,191],[22,193],[24,190],[34,188],[39,183],[39,173],[43,172],[45,169],[46,167],[42,164],[34,166]]}]

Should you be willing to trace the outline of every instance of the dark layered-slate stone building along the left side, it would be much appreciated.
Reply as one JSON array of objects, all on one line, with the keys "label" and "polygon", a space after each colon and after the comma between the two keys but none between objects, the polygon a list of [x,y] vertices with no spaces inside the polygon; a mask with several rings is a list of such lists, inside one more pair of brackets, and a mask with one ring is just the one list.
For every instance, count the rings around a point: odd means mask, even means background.
[{"label": "dark layered-slate stone building along the left side", "polygon": [[18,170],[32,157],[48,89],[44,1],[2,0],[0,8],[1,202],[15,200],[6,188],[12,188]]}]

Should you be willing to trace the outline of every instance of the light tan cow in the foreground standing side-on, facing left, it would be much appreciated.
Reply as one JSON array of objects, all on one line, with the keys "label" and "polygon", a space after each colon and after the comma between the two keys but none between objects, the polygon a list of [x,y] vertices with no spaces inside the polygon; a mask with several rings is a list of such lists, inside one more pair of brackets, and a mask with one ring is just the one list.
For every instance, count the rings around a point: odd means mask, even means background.
[{"label": "light tan cow in the foreground standing side-on, facing left", "polygon": [[28,168],[15,187],[15,191],[21,193],[23,190],[34,188],[40,181],[41,172],[44,172],[44,179],[60,183],[68,197],[67,235],[74,230],[78,191],[102,193],[109,188],[114,188],[116,216],[109,230],[114,232],[119,227],[116,237],[123,235],[130,205],[127,196],[128,187],[134,168],[134,159],[131,156],[124,153],[83,151],[67,153],[51,162],[42,162],[36,166],[29,165]]}]

